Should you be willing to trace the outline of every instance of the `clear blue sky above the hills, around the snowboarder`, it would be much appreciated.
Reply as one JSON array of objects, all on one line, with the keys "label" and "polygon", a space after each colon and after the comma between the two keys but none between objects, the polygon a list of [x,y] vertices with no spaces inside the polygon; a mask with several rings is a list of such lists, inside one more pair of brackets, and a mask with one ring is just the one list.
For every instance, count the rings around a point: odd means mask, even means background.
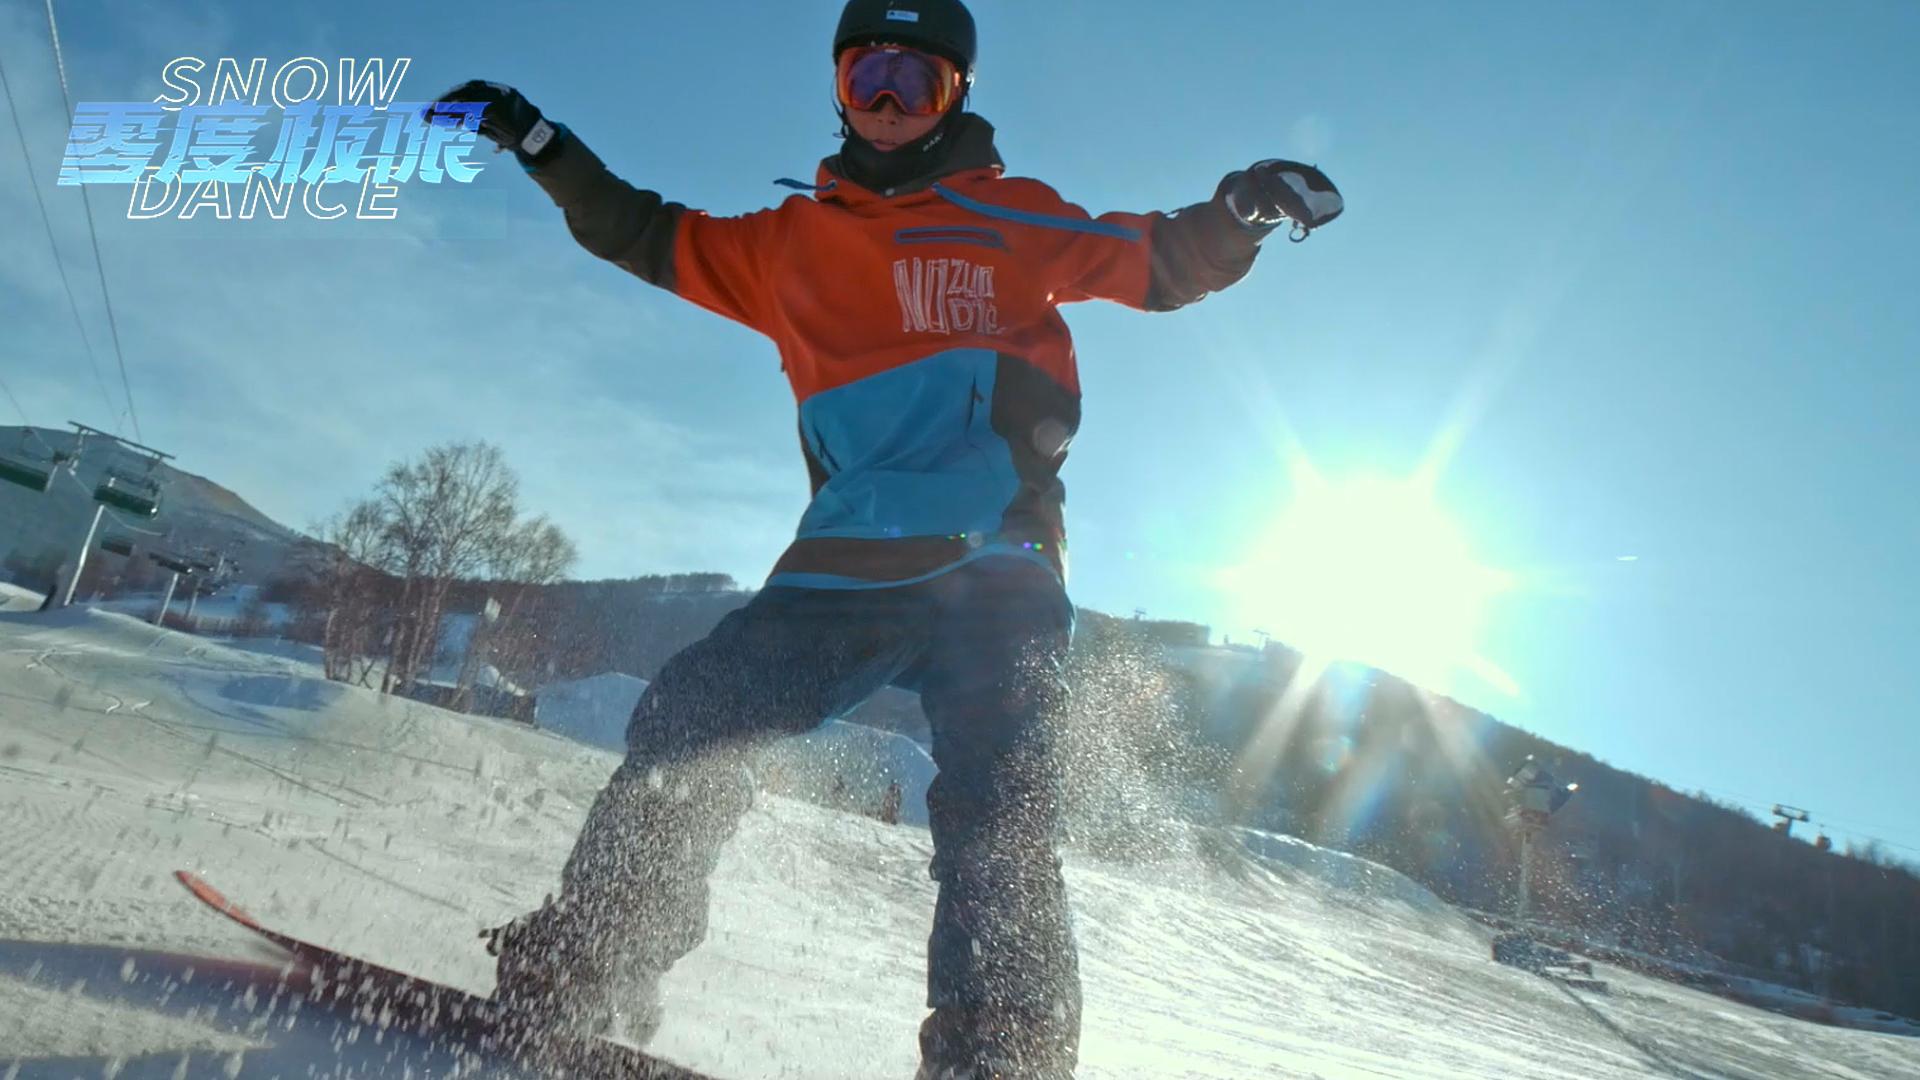
[{"label": "clear blue sky above the hills, around the snowboarder", "polygon": [[[1920,859],[1920,8],[973,8],[973,108],[1014,173],[1094,211],[1171,209],[1286,156],[1350,204],[1185,311],[1068,311],[1081,603],[1286,640],[1286,605],[1219,571],[1292,498],[1288,454],[1331,477],[1442,461],[1436,502],[1515,582],[1478,642],[1513,686],[1446,690]],[[405,98],[515,83],[636,184],[714,213],[776,202],[774,177],[835,148],[831,0],[56,10],[77,100],[150,100],[177,56],[405,56]],[[65,125],[38,0],[0,0],[0,60],[117,394],[79,192],[50,184]],[[35,423],[111,427],[12,131],[0,146],[0,377]],[[125,221],[125,192],[96,188],[146,440],[303,525],[394,457],[486,436],[582,575],[756,582],[804,503],[770,344],[580,252],[507,160],[399,206]]]}]

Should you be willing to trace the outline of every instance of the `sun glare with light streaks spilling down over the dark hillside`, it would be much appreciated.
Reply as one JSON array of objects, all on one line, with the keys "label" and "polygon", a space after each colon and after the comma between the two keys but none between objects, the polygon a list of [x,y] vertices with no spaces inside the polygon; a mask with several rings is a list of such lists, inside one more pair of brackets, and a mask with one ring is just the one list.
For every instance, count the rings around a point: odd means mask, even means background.
[{"label": "sun glare with light streaks spilling down over the dark hillside", "polygon": [[[1480,651],[1490,605],[1519,580],[1475,553],[1467,530],[1434,494],[1438,469],[1425,467],[1411,479],[1327,477],[1298,448],[1288,463],[1290,482],[1273,517],[1246,557],[1217,578],[1240,625],[1269,626],[1275,640],[1302,653],[1240,746],[1229,796],[1236,811],[1252,817],[1273,798],[1283,759],[1309,753],[1321,796],[1311,821],[1296,826],[1319,842],[1344,844],[1371,828],[1409,759],[1438,759],[1442,773],[1459,782],[1490,776],[1471,723],[1476,713],[1446,694],[1455,680],[1473,680],[1521,696],[1515,678]],[[1352,665],[1398,676],[1404,686],[1396,694],[1411,700],[1352,701],[1344,688]],[[1369,680],[1365,694],[1377,690]],[[1363,734],[1338,748],[1327,742],[1357,732],[1356,717],[1373,705],[1413,721],[1404,742]],[[1436,849],[1450,844],[1438,834],[1432,842]]]}]

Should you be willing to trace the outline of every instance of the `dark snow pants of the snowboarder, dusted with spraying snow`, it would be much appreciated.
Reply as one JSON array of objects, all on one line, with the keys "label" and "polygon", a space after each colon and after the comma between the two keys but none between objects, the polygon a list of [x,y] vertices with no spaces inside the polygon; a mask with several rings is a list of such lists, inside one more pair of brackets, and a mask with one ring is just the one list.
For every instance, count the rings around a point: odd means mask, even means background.
[{"label": "dark snow pants of the snowboarder, dusted with spraying snow", "polygon": [[1071,628],[1060,582],[1018,557],[908,586],[762,590],[634,711],[563,878],[559,951],[589,969],[572,978],[645,982],[699,945],[707,878],[753,801],[753,749],[899,684],[922,694],[939,767],[922,1043],[937,1030],[958,1055],[1002,1053],[968,1045],[1000,1032],[1035,1074],[1069,1072],[1079,965],[1054,830]]}]

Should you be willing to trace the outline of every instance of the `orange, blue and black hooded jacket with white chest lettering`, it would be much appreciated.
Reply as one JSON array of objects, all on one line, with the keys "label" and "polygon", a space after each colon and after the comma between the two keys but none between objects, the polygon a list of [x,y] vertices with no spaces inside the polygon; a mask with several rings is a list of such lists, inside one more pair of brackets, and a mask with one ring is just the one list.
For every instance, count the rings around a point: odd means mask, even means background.
[{"label": "orange, blue and black hooded jacket with white chest lettering", "polygon": [[895,586],[996,553],[1064,580],[1079,371],[1058,307],[1169,311],[1258,254],[1217,192],[1092,217],[1006,177],[985,119],[948,138],[900,186],[868,190],[835,156],[808,194],[739,217],[634,188],[572,133],[530,169],[584,248],[780,348],[812,503],[768,584]]}]

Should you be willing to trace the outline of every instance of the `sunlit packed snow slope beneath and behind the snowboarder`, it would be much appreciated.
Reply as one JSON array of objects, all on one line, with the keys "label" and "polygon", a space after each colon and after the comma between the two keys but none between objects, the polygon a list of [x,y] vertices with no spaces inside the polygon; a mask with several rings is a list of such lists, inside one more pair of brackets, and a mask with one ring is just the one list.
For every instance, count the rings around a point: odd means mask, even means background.
[{"label": "sunlit packed snow slope beneath and behind the snowboarder", "polygon": [[[476,932],[555,886],[612,765],[294,657],[109,613],[0,613],[0,938],[269,955],[175,886],[186,867],[294,934],[486,992]],[[1261,847],[1069,853],[1081,1076],[1920,1076],[1920,1040],[1619,970],[1588,995],[1496,967],[1482,930],[1392,871]],[[927,857],[922,828],[762,798],[653,1049],[739,1080],[910,1076]],[[0,976],[0,1076],[73,1055],[113,1076],[159,1051],[246,1076],[232,1053],[271,1038]]]}]

